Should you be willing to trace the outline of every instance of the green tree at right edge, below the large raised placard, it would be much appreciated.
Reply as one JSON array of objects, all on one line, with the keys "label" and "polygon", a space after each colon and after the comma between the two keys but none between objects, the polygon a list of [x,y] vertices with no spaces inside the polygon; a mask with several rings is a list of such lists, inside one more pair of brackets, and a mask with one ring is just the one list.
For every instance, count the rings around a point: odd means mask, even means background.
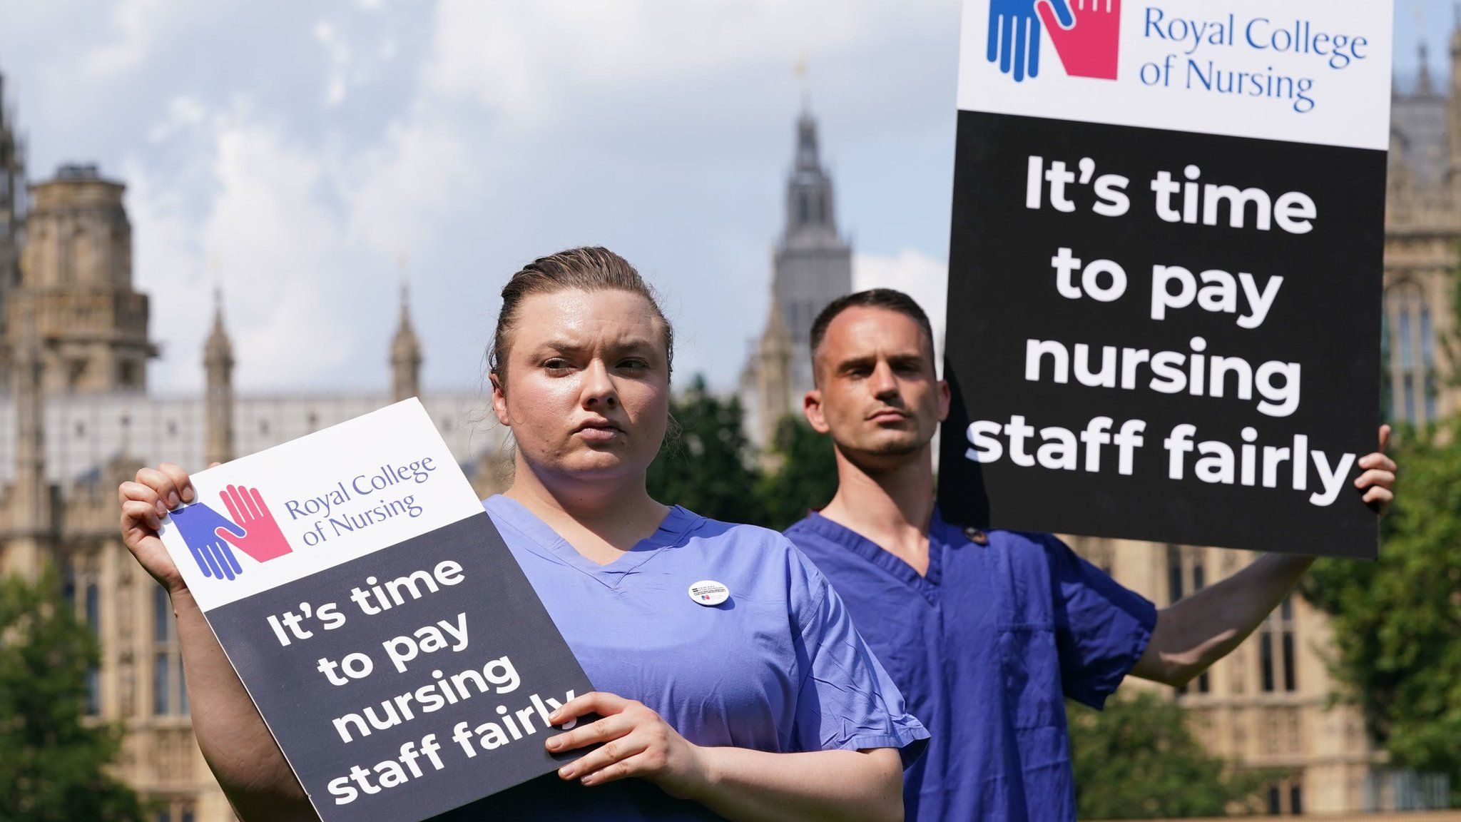
[{"label": "green tree at right edge, below the large raised placard", "polygon": [[[1391,762],[1461,785],[1461,418],[1395,437],[1395,503],[1376,562],[1315,563],[1331,667]],[[1452,793],[1452,802],[1461,793]]]}]

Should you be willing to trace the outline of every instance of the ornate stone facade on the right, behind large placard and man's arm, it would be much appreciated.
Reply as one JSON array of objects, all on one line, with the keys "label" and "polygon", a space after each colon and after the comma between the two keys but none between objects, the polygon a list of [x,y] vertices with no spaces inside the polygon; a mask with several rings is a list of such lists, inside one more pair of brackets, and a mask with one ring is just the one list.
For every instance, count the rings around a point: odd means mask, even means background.
[{"label": "ornate stone facade on the right, behind large placard and man's arm", "polygon": [[[1455,333],[1452,300],[1461,287],[1461,29],[1451,38],[1449,75],[1443,94],[1422,50],[1414,82],[1392,98],[1381,404],[1385,418],[1416,426],[1461,412],[1461,391],[1448,379],[1461,363],[1445,344]],[[1157,606],[1230,576],[1256,556],[1069,541]],[[1182,692],[1163,690],[1189,711],[1192,728],[1214,753],[1292,774],[1270,787],[1273,812],[1356,813],[1435,802],[1424,777],[1397,778],[1384,768],[1359,711],[1330,706],[1331,649],[1325,616],[1293,595],[1201,679]]]}]

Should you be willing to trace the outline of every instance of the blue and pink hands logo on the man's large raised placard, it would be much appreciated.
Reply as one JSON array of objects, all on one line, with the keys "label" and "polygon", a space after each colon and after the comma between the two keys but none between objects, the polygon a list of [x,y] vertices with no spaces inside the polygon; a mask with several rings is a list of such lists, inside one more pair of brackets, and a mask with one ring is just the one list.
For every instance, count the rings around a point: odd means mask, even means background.
[{"label": "blue and pink hands logo on the man's large raised placard", "polygon": [[1042,28],[1068,76],[1116,79],[1121,0],[989,0],[989,61],[1015,82],[1040,76]]}]

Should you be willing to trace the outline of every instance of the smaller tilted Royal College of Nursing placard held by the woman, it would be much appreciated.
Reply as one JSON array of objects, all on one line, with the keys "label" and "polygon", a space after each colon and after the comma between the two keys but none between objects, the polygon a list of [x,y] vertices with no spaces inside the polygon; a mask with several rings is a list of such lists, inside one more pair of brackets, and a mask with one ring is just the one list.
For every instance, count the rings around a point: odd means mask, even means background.
[{"label": "smaller tilted Royal College of Nursing placard held by the woman", "polygon": [[321,819],[427,819],[573,758],[548,715],[592,686],[421,402],[191,480],[162,541]]}]

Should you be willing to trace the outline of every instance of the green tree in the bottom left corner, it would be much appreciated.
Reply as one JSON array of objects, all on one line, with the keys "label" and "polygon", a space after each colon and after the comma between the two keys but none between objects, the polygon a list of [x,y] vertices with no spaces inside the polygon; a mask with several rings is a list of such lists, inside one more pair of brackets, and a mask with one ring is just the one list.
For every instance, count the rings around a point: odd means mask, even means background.
[{"label": "green tree in the bottom left corner", "polygon": [[0,581],[0,819],[133,822],[137,796],[107,772],[121,730],[85,720],[96,639],[54,575]]}]

